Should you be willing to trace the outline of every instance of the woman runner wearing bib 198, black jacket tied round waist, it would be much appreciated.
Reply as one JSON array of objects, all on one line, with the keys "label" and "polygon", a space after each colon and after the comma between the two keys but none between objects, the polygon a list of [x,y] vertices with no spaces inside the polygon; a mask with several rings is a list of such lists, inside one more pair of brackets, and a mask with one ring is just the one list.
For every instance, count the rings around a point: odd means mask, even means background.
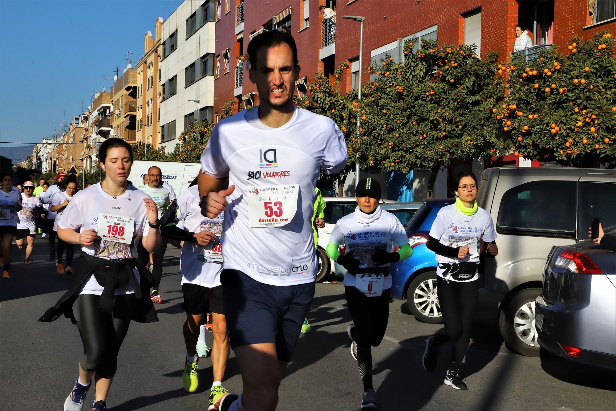
[{"label": "woman runner wearing bib 198, black jacket tied round waist", "polygon": [[105,179],[76,193],[58,224],[63,242],[81,245],[78,269],[67,293],[39,319],[49,322],[63,314],[77,324],[81,335],[79,376],[64,402],[65,411],[83,409],[92,376],[95,401],[91,409],[106,410],[118,352],[131,320],[157,320],[149,297],[152,277],[137,264],[135,245],[142,242],[150,253],[160,246],[156,205],[126,182],[132,166],[127,142],[105,140],[99,160]]}]

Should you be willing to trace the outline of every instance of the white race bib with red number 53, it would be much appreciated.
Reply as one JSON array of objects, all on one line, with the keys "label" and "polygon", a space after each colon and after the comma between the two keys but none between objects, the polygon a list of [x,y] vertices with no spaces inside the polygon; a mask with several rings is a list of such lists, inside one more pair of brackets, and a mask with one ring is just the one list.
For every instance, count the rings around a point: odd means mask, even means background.
[{"label": "white race bib with red number 53", "polygon": [[248,187],[250,227],[286,226],[298,211],[299,185]]}]

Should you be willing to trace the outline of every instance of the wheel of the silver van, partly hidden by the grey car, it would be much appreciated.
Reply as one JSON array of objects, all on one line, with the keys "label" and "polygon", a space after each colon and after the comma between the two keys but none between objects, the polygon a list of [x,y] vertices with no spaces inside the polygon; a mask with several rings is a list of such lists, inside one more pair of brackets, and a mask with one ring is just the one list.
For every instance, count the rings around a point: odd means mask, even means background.
[{"label": "wheel of the silver van, partly hidden by the grey car", "polygon": [[537,330],[535,330],[535,299],[541,288],[518,291],[501,309],[500,332],[509,349],[528,357],[539,356]]}]

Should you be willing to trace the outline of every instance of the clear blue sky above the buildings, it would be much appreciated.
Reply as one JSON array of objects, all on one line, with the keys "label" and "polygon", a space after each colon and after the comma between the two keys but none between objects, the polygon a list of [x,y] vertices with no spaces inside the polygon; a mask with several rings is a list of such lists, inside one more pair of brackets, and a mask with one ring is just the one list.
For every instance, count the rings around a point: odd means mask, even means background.
[{"label": "clear blue sky above the buildings", "polygon": [[81,100],[87,110],[181,2],[0,0],[0,141],[39,142],[81,113]]}]

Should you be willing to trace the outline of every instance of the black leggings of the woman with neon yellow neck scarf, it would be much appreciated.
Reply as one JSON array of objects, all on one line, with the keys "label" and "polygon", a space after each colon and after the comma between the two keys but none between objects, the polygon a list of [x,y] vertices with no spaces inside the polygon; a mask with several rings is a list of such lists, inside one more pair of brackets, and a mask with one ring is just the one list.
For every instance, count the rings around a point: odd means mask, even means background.
[{"label": "black leggings of the woman with neon yellow neck scarf", "polygon": [[471,341],[472,322],[477,308],[479,281],[445,281],[437,277],[440,311],[445,327],[434,336],[432,347],[439,348],[447,341],[453,341],[452,363],[457,370]]}]

